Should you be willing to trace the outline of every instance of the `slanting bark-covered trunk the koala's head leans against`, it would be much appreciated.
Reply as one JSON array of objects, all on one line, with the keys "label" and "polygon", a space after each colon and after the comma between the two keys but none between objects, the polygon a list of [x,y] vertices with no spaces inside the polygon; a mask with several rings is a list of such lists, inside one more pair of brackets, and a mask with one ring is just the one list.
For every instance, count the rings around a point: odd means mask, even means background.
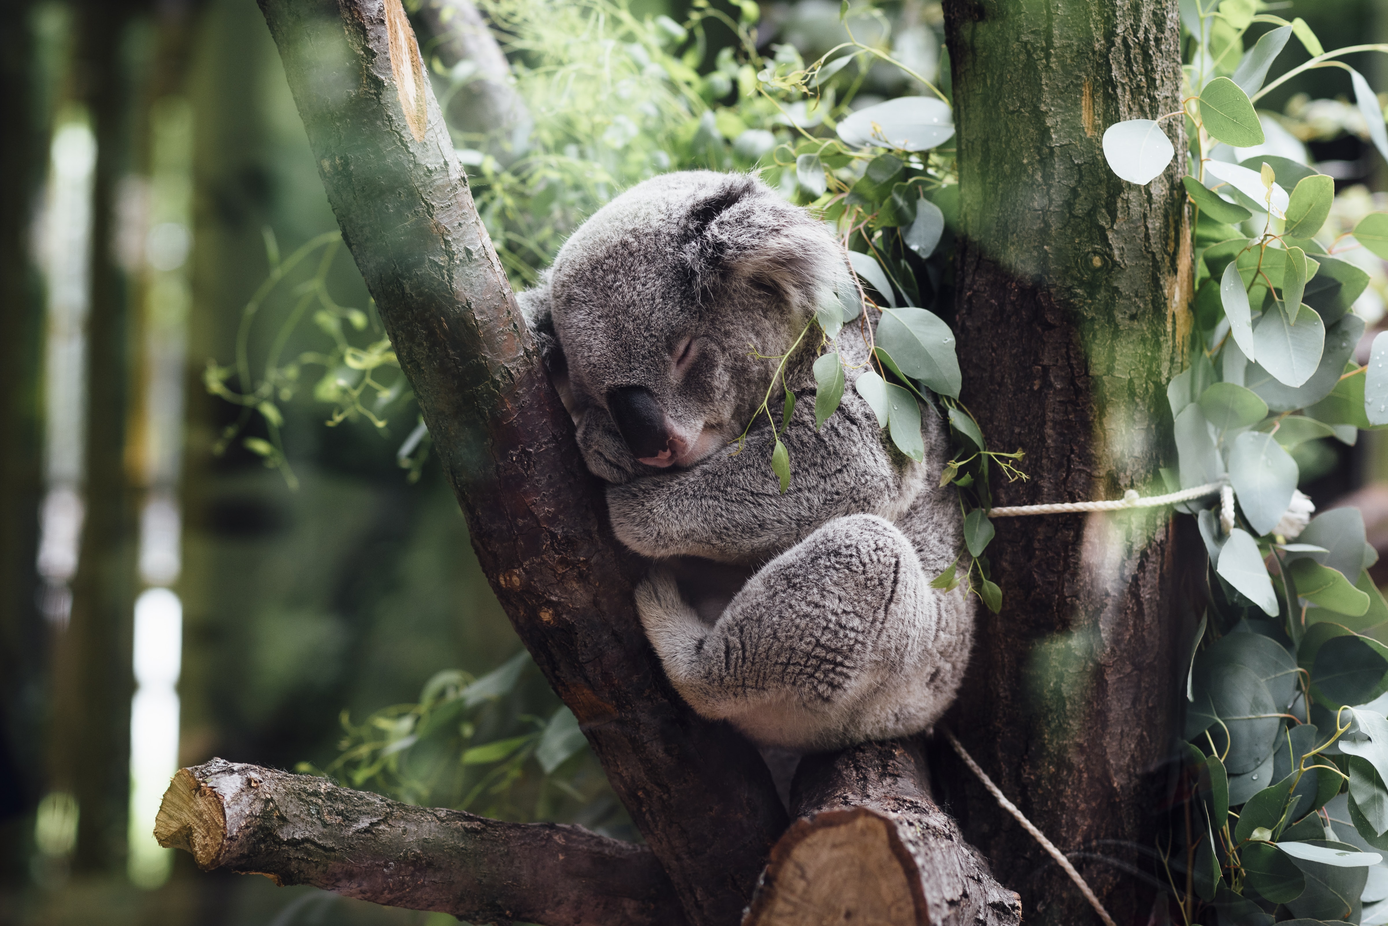
[{"label": "slanting bark-covered trunk the koala's head leans against", "polygon": [[[391,46],[414,47],[387,35],[387,12],[404,19],[398,0],[260,4],[493,589],[688,919],[736,922],[784,808],[756,751],[684,707],[645,642],[632,602],[638,566],[611,536],[422,62],[391,60]],[[418,108],[412,93],[426,97]]]}]

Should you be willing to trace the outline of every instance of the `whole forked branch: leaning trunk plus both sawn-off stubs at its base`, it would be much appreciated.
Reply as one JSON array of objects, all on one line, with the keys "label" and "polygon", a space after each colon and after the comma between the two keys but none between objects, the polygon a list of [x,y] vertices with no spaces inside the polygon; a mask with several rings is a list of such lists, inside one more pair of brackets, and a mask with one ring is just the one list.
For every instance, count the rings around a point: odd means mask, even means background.
[{"label": "whole forked branch: leaning trunk plus both sawn-off stubs at its base", "polygon": [[[540,923],[682,922],[658,862],[684,922],[738,922],[786,811],[756,751],[679,700],[641,632],[632,582],[643,567],[612,538],[601,487],[477,218],[400,0],[258,1],[343,240],[482,567],[650,850],[219,760],[179,772],[161,841],[204,868]],[[797,866],[827,877],[872,873],[883,859],[895,866],[884,890],[895,893],[881,922],[1016,920],[1015,896],[926,797],[909,750],[869,744],[812,758],[798,780],[805,819],[772,854],[754,922],[819,923],[836,911],[841,919],[836,897],[795,894]],[[843,810],[851,805],[861,807]]]}]

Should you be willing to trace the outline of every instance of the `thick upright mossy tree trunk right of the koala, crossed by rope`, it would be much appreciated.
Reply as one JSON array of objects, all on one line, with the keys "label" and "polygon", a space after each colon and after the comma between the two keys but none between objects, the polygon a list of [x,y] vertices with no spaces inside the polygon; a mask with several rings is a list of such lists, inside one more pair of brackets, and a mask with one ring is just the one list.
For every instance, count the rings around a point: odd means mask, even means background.
[{"label": "thick upright mossy tree trunk right of the koala, crossed by rope", "polygon": [[[999,505],[1159,489],[1162,384],[1190,329],[1180,158],[1148,187],[1108,169],[1113,122],[1180,110],[1174,0],[947,0],[959,144],[963,396],[1029,482]],[[1184,151],[1180,121],[1167,121]],[[1146,922],[1153,814],[1177,717],[1170,512],[998,523],[1004,589],[980,609],[952,717],[970,753],[1117,922]],[[1078,891],[956,761],[965,836],[1029,923],[1095,922]]]}]

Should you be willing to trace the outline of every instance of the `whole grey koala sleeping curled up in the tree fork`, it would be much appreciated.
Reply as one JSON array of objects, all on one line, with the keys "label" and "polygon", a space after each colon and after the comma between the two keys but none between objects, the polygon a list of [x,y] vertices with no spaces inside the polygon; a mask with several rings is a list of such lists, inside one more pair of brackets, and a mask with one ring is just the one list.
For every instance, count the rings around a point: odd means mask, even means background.
[{"label": "whole grey koala sleeping curled up in the tree fork", "polygon": [[856,292],[848,274],[808,212],[697,171],[605,205],[520,295],[609,482],[612,528],[654,561],[636,603],[670,682],[700,714],[797,751],[929,728],[973,640],[965,589],[929,584],[960,546],[955,493],[937,488],[944,431],[924,409],[924,463],[891,445],[851,385],[867,369],[859,323],[838,337],[849,385],[818,431],[818,327],[787,363],[790,489],[765,414],[733,453],[777,355],[820,299]]}]

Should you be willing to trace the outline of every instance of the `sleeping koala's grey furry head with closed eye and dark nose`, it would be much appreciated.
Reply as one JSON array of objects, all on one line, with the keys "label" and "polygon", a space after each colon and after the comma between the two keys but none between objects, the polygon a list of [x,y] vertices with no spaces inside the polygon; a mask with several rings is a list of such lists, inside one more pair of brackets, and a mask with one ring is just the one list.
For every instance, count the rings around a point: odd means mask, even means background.
[{"label": "sleeping koala's grey furry head with closed eye and dark nose", "polygon": [[754,348],[788,349],[823,288],[806,259],[841,263],[818,222],[741,175],[665,175],[589,219],[550,283],[589,469],[625,482],[741,434],[776,369]]}]

